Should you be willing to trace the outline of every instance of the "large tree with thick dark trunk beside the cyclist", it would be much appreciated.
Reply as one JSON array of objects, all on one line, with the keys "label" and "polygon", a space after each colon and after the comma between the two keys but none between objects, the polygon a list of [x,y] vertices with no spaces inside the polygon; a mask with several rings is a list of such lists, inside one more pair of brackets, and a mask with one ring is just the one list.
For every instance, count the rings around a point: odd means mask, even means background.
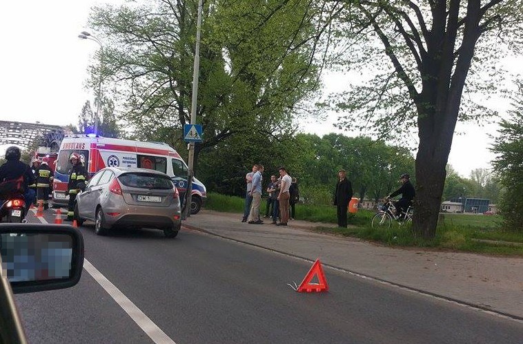
[{"label": "large tree with thick dark trunk beside the cyclist", "polygon": [[337,106],[349,111],[348,120],[341,126],[399,137],[416,128],[419,146],[413,230],[432,238],[456,122],[492,114],[463,95],[490,90],[501,75],[493,68],[493,58],[500,56],[500,50],[522,46],[522,3],[334,3],[344,8],[335,19],[331,36],[342,37],[337,41],[336,61],[347,70],[376,75],[364,82],[355,79],[345,97],[337,96]]}]

